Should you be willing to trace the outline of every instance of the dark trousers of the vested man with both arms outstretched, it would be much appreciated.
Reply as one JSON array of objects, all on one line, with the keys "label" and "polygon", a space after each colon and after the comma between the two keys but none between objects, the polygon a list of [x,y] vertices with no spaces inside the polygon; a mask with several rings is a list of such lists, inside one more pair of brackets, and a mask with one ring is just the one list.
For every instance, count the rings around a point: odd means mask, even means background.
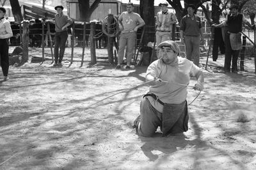
[{"label": "dark trousers of the vested man with both arms outstretched", "polygon": [[230,45],[230,34],[225,32],[225,64],[224,64],[224,71],[230,71],[230,65],[232,60],[232,71],[237,71],[237,59],[240,50],[232,50]]}]

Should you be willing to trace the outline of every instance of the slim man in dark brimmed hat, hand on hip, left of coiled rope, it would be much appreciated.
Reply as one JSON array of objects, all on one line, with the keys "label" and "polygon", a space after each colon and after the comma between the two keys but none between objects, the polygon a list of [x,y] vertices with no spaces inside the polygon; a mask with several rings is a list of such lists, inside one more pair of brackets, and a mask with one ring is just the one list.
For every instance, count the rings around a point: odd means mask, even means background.
[{"label": "slim man in dark brimmed hat, hand on hip, left of coiled rope", "polygon": [[[66,41],[68,38],[67,27],[72,24],[72,20],[63,14],[63,6],[55,6],[57,11],[55,15],[55,38],[54,38],[54,65],[62,66],[61,62],[64,56]],[[59,52],[60,48],[60,52]]]}]

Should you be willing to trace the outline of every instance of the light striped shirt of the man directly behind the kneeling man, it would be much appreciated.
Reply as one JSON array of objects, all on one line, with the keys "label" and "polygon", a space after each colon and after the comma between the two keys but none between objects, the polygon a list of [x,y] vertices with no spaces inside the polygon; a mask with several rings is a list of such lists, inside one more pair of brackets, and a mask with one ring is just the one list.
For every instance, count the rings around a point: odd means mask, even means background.
[{"label": "light striped shirt of the man directly behind the kneeling man", "polygon": [[157,25],[157,31],[172,31],[173,23],[171,22],[177,23],[177,18],[175,14],[169,10],[167,10],[165,14],[163,13],[163,11],[159,11],[157,13],[157,22],[161,23],[160,27]]}]

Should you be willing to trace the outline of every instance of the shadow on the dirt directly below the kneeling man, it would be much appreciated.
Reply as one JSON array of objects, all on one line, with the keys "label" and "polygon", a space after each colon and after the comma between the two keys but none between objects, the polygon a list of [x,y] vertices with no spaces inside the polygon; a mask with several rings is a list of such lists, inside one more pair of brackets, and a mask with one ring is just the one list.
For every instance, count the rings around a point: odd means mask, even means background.
[{"label": "shadow on the dirt directly below the kneeling man", "polygon": [[141,146],[142,152],[148,157],[149,161],[155,161],[161,155],[171,154],[186,148],[187,145],[197,145],[200,143],[199,139],[189,139],[184,133],[169,135],[167,137],[161,137],[162,134],[156,132],[152,138],[146,138],[140,136],[143,146]]}]

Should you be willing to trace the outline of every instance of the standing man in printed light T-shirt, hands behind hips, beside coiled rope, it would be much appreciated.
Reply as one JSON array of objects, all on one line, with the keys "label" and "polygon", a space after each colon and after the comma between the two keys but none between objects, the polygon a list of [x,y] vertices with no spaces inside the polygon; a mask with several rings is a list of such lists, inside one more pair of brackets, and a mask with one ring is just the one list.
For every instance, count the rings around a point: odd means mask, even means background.
[{"label": "standing man in printed light T-shirt, hands behind hips, beside coiled rope", "polygon": [[132,3],[127,3],[126,8],[127,11],[121,13],[120,17],[118,18],[121,34],[119,39],[118,63],[116,69],[121,68],[121,64],[124,59],[125,45],[127,45],[127,65],[125,68],[130,69],[136,42],[136,32],[138,31],[138,28],[145,25],[145,22],[140,15],[133,12],[134,6]]}]

